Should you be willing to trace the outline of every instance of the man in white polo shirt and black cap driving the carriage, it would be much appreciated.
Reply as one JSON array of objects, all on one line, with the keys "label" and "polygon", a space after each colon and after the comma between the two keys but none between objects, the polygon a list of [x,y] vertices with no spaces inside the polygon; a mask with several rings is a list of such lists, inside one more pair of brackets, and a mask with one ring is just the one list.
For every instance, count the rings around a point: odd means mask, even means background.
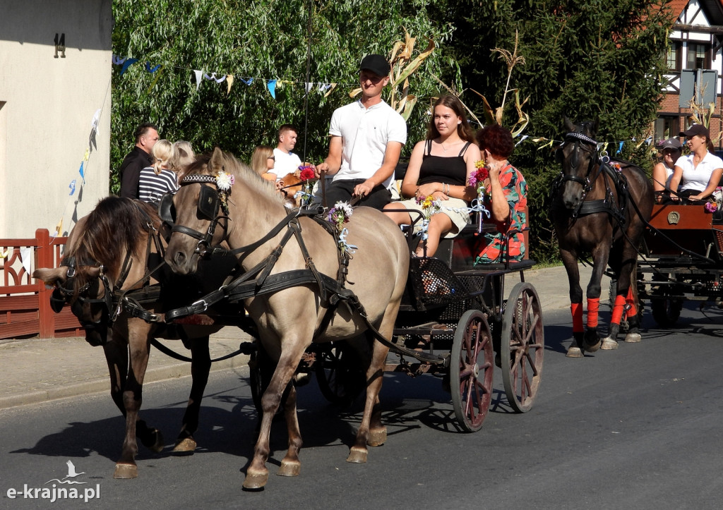
[{"label": "man in white polo shirt and black cap driving the carriage", "polygon": [[316,167],[333,176],[325,205],[349,202],[382,209],[391,200],[394,168],[406,143],[406,123],[382,101],[390,66],[381,55],[371,54],[359,64],[361,98],[337,108],[331,116],[329,154]]}]

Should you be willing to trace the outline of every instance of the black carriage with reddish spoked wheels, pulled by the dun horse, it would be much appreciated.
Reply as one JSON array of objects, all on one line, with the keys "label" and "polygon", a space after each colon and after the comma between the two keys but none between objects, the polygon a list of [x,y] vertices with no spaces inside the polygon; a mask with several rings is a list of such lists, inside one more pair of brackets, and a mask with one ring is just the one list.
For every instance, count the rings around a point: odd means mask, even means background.
[{"label": "black carriage with reddish spoked wheels, pulled by the dun horse", "polygon": [[[473,222],[456,238],[442,240],[435,257],[410,259],[393,354],[385,364],[388,372],[440,377],[451,394],[459,428],[468,432],[482,428],[492,402],[495,364],[502,372],[508,405],[527,412],[539,390],[544,357],[542,306],[524,277],[535,261],[473,267],[476,236],[487,228],[495,227]],[[508,238],[514,234],[510,231]],[[419,238],[410,233],[407,239],[411,253]],[[505,277],[515,274],[520,281],[505,299]],[[263,353],[252,347],[249,365],[257,407],[265,386],[259,357]],[[339,405],[348,404],[364,387],[364,374],[343,341],[312,345],[299,371],[313,371],[324,397]]]}]

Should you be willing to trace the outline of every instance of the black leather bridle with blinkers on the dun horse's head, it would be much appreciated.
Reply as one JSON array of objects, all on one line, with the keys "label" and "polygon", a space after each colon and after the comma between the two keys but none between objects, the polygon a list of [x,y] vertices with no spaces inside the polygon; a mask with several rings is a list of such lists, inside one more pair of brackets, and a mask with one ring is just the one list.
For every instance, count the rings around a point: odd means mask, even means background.
[{"label": "black leather bridle with blinkers on the dun horse's head", "polygon": [[[158,215],[161,217],[164,223],[171,226],[171,234],[179,232],[181,234],[189,235],[190,237],[197,239],[198,243],[194,254],[204,256],[208,253],[208,247],[211,246],[213,241],[213,234],[221,220],[226,220],[223,225],[224,237],[226,236],[226,230],[228,228],[228,209],[225,207],[226,200],[228,199],[228,191],[218,191],[217,188],[211,188],[207,184],[213,184],[216,186],[215,176],[204,176],[200,174],[194,174],[184,176],[181,178],[179,184],[181,186],[187,186],[189,184],[199,183],[201,190],[198,196],[198,215],[205,220],[209,220],[208,229],[206,233],[199,232],[185,225],[176,225],[175,218],[175,207],[174,207],[174,195],[167,193],[161,197],[161,203],[158,205]],[[224,194],[222,197],[221,194]],[[222,204],[223,202],[223,204]],[[223,215],[219,215],[218,212],[223,210]]]}]

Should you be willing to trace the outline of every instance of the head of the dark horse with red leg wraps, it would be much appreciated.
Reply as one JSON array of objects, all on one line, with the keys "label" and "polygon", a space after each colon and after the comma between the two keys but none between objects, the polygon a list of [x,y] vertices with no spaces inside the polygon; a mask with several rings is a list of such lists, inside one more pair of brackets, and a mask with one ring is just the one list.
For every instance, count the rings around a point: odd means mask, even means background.
[{"label": "head of the dark horse with red leg wraps", "polygon": [[559,196],[565,208],[577,209],[591,189],[590,175],[598,163],[598,122],[574,124],[565,117],[565,141],[557,148],[557,161],[562,165]]}]

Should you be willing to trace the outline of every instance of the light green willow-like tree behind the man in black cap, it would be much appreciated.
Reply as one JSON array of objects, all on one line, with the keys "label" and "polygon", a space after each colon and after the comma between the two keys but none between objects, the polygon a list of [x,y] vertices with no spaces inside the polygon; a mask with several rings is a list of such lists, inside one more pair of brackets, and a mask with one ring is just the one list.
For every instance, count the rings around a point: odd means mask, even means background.
[{"label": "light green willow-like tree behind the man in black cap", "polygon": [[[114,70],[112,192],[132,132],[145,121],[158,124],[163,138],[187,139],[197,152],[218,145],[244,160],[258,144],[275,145],[278,126],[291,123],[300,130],[296,152],[320,161],[331,113],[358,86],[359,61],[367,53],[389,56],[405,29],[418,38],[418,51],[425,38],[437,45],[410,78],[410,92],[420,98],[408,120],[411,141],[424,136],[429,98],[439,87],[432,75],[444,71],[455,80],[455,64],[441,51],[453,29],[429,16],[424,0],[116,0],[113,8],[114,53],[140,61],[122,76],[121,66]],[[309,15],[308,81],[338,85],[326,97],[315,87],[305,108]],[[145,62],[163,67],[150,73]],[[226,82],[204,79],[197,90],[194,69],[234,74],[234,85],[227,92]],[[251,85],[241,82],[249,77]],[[266,90],[269,79],[278,79],[275,99]]]}]

